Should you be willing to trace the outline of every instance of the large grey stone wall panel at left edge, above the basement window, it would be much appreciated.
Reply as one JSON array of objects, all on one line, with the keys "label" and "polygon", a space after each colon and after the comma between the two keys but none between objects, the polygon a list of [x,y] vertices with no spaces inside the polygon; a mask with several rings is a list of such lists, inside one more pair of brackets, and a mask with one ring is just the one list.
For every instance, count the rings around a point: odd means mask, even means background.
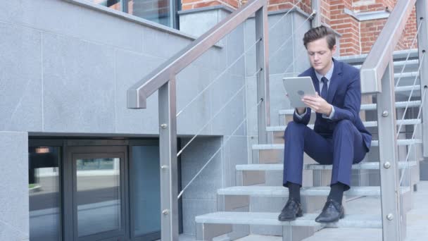
[{"label": "large grey stone wall panel at left edge, above the basement window", "polygon": [[0,130],[42,130],[41,33],[0,23]]}]

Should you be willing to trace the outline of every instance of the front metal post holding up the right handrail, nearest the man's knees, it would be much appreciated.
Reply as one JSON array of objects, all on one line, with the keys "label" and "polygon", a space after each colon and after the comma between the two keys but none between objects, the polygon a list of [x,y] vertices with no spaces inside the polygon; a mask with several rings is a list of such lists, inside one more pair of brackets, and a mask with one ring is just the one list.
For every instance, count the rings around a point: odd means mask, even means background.
[{"label": "front metal post holding up the right handrail, nearest the man's knees", "polygon": [[[394,91],[394,61],[391,56],[382,77],[382,92],[377,94],[379,160],[382,202],[382,232],[384,241],[402,240],[401,192],[398,175],[396,139],[396,107]],[[392,152],[391,152],[392,149]],[[404,217],[405,218],[405,217]]]}]

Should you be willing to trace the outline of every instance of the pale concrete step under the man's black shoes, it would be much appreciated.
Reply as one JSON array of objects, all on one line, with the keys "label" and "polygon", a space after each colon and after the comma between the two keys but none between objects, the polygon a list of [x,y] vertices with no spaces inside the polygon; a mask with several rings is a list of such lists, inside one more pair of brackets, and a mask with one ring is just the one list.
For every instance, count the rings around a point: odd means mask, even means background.
[{"label": "pale concrete step under the man's black shoes", "polygon": [[278,221],[279,213],[253,212],[215,212],[196,216],[196,223],[211,224],[244,224],[244,225],[276,225],[276,226],[313,226],[331,228],[382,228],[382,218],[374,214],[346,214],[345,218],[336,223],[322,224],[315,222],[319,214],[303,214],[295,221]]}]

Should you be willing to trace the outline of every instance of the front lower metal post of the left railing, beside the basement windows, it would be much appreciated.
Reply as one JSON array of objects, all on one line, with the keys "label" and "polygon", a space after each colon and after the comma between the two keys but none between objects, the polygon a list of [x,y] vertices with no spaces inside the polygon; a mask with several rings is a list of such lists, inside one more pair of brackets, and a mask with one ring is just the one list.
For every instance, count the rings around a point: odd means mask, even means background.
[{"label": "front lower metal post of the left railing, beside the basement windows", "polygon": [[175,76],[159,88],[160,229],[162,240],[178,240],[177,119]]}]

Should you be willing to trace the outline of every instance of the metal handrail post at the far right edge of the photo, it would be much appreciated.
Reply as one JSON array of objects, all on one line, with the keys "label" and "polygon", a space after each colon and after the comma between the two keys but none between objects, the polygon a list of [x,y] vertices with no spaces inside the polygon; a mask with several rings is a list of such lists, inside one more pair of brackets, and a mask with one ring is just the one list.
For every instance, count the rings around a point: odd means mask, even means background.
[{"label": "metal handrail post at the far right edge of the photo", "polygon": [[[417,48],[419,49],[419,61],[422,67],[420,68],[420,87],[421,87],[421,98],[424,88],[428,86],[428,61],[427,58],[422,58],[422,53],[428,50],[428,25],[427,25],[427,11],[428,3],[427,0],[416,1],[416,16],[417,21],[424,21],[420,26],[419,35],[417,35]],[[421,99],[422,103],[427,103],[428,96]],[[428,157],[428,111],[422,111],[422,147],[424,157]]]}]

